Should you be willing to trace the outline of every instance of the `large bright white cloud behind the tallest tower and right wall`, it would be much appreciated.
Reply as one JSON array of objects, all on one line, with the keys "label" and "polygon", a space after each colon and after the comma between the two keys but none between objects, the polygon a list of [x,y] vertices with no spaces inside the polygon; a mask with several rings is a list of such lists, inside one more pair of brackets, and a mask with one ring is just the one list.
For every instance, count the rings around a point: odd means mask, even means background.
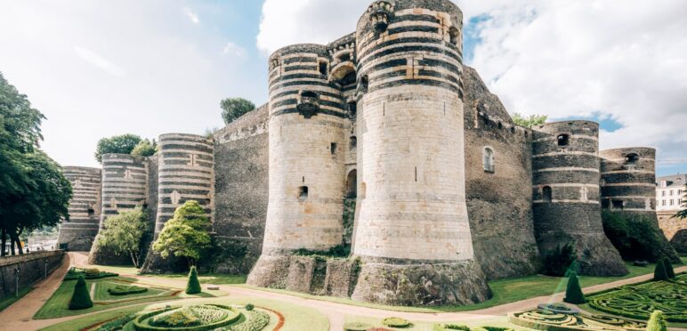
[{"label": "large bright white cloud behind the tallest tower and right wall", "polygon": [[[326,44],[352,32],[370,1],[265,0],[258,48]],[[661,162],[687,158],[687,2],[456,3],[481,38],[467,64],[511,112],[610,117],[623,127],[601,133],[602,149],[653,146]]]}]

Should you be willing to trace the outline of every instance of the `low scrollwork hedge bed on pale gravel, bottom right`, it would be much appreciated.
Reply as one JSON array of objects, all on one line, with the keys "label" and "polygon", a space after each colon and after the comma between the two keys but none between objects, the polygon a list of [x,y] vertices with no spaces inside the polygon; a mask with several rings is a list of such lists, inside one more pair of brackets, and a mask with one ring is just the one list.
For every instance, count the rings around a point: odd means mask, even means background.
[{"label": "low scrollwork hedge bed on pale gravel, bottom right", "polygon": [[509,314],[511,323],[537,330],[644,330],[646,323],[605,315],[570,314],[546,309]]}]

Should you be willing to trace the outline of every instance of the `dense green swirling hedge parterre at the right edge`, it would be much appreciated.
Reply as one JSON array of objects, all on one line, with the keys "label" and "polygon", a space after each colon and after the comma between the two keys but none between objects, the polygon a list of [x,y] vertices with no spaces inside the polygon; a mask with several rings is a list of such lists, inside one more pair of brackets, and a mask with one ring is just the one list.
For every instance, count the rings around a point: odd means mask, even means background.
[{"label": "dense green swirling hedge parterre at the right edge", "polygon": [[631,319],[649,319],[651,312],[663,311],[671,322],[687,322],[687,274],[671,281],[618,287],[589,296],[589,305],[597,311]]}]

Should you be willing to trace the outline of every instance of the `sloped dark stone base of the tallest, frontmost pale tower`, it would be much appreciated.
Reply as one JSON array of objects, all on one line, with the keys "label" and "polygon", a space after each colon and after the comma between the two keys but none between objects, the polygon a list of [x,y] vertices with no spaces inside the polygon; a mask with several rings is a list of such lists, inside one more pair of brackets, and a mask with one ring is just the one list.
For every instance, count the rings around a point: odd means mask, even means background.
[{"label": "sloped dark stone base of the tallest, frontmost pale tower", "polygon": [[474,260],[432,264],[363,262],[352,299],[398,306],[481,303],[491,289]]}]

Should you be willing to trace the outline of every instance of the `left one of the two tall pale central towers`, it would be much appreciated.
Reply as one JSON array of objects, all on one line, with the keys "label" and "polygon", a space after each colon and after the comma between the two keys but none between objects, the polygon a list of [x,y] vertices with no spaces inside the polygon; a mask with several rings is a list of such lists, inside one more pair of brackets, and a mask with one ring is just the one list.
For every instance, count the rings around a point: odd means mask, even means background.
[{"label": "left one of the two tall pale central towers", "polygon": [[294,251],[327,251],[343,242],[348,113],[329,66],[327,46],[319,44],[288,46],[270,57],[270,193],[263,253],[249,284],[277,287]]}]

